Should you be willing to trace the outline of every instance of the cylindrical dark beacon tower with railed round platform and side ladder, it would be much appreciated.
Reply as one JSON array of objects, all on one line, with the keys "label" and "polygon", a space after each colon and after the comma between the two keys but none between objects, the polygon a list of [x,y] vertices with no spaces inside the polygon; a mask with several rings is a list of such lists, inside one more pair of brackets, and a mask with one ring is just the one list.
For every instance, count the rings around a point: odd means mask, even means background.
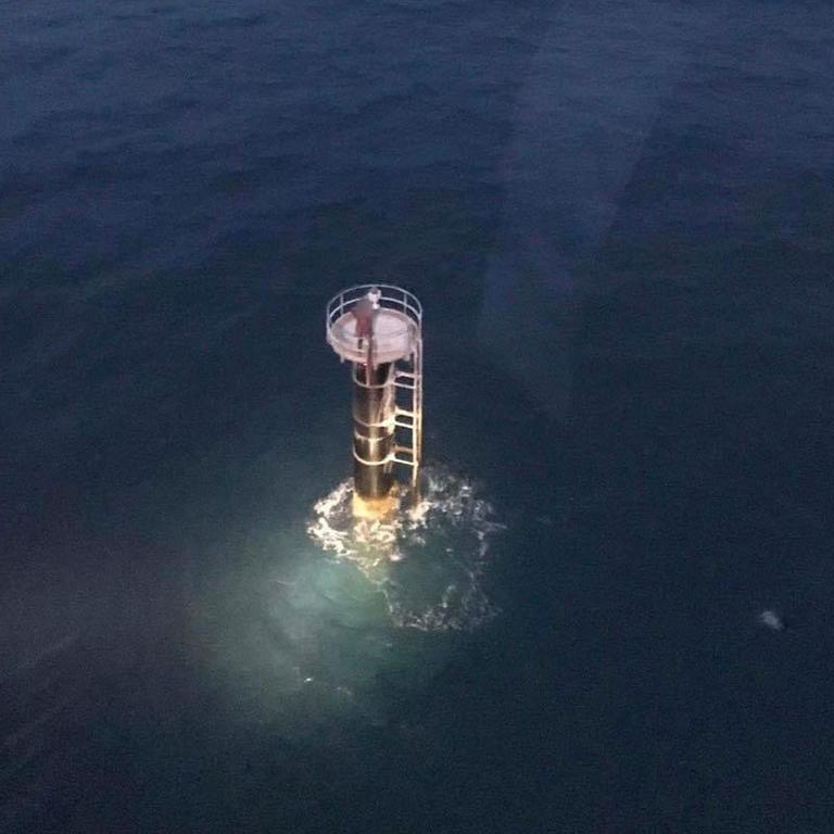
[{"label": "cylindrical dark beacon tower with railed round platform and side ladder", "polygon": [[327,341],[353,380],[354,515],[396,507],[396,469],[418,486],[422,451],[422,306],[407,290],[362,285],[327,305]]}]

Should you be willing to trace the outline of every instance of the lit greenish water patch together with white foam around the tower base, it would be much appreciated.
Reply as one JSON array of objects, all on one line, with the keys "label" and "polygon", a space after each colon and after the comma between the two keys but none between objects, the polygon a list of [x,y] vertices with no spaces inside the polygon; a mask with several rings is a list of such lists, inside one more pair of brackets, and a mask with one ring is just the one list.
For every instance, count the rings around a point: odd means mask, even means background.
[{"label": "lit greenish water patch together with white foam around the tower base", "polygon": [[386,523],[354,523],[352,482],[306,527],[226,544],[194,605],[194,637],[238,720],[309,738],[386,723],[392,695],[450,661],[455,635],[493,619],[484,590],[503,529],[471,481],[426,471],[424,500]]}]

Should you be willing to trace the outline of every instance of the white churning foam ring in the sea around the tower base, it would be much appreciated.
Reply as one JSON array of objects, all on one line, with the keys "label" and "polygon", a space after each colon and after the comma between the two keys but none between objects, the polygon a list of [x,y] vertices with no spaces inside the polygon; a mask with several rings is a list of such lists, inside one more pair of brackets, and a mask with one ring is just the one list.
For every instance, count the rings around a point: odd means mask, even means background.
[{"label": "white churning foam ring in the sea around the tower base", "polygon": [[353,518],[346,480],[316,503],[307,532],[379,589],[395,626],[470,631],[497,614],[483,579],[504,526],[472,481],[439,466],[422,476],[421,501],[384,521]]}]

